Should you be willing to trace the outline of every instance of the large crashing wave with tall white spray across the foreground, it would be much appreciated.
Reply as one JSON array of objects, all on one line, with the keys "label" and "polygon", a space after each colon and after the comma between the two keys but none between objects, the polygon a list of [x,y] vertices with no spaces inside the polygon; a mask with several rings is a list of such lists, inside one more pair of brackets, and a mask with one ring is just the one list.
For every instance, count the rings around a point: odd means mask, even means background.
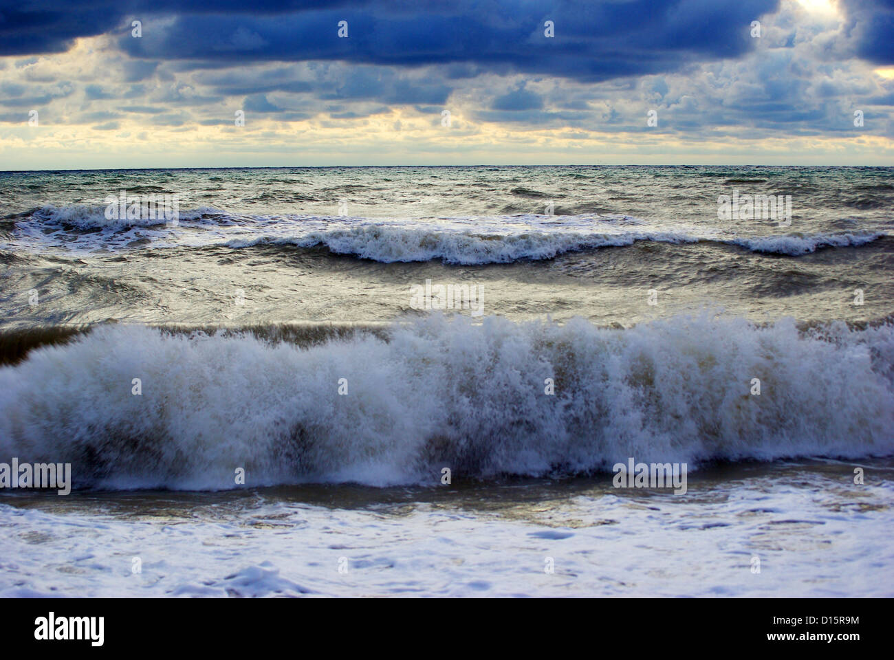
[{"label": "large crashing wave with tall white spray across the foreground", "polygon": [[491,478],[630,456],[694,467],[894,453],[894,326],[435,315],[387,334],[301,349],[99,327],[0,368],[0,457],[71,462],[77,487],[226,489],[239,468],[249,486],[385,485],[444,467]]}]

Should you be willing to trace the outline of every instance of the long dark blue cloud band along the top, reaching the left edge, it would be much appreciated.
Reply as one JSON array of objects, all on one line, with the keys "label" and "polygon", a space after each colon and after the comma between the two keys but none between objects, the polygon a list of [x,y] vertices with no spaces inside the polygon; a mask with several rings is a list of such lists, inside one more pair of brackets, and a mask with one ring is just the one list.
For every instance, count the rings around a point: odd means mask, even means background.
[{"label": "long dark blue cloud band along the top, reaching the left edge", "polygon": [[[528,72],[608,80],[734,57],[750,21],[780,0],[457,0],[343,2],[0,0],[0,55],[59,52],[77,37],[120,35],[135,58],[208,63],[345,61],[451,64],[450,75]],[[131,37],[131,20],[142,37]],[[160,20],[164,19],[164,21]],[[337,36],[348,21],[348,38]],[[554,38],[544,36],[553,21]],[[132,80],[150,70],[135,69]]]}]

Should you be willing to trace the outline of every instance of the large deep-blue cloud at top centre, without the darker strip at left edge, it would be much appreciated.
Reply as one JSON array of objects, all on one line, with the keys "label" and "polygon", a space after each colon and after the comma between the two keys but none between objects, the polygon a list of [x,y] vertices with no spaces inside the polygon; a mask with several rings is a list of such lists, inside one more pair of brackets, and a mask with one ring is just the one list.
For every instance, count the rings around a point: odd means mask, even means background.
[{"label": "large deep-blue cloud at top centre, without the darker strip at left edge", "polygon": [[[753,47],[750,21],[778,0],[501,0],[423,5],[344,4],[270,15],[180,13],[164,30],[120,46],[136,57],[231,62],[337,60],[417,66],[451,64],[451,74],[529,72],[608,80],[673,71],[689,62]],[[337,35],[348,21],[348,38]],[[554,38],[544,36],[553,21]]]}]

